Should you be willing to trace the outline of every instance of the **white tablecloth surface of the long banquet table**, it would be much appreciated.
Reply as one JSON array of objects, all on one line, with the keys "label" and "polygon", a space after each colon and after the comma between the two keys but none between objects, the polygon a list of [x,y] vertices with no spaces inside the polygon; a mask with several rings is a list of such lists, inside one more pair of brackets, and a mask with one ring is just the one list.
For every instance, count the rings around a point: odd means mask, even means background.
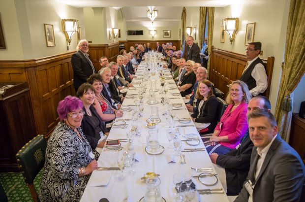
[{"label": "white tablecloth surface of the long banquet table", "polygon": [[[144,63],[141,63],[138,67],[137,74],[139,77],[143,77],[143,68],[146,68]],[[142,74],[141,74],[142,72]],[[166,75],[168,78],[170,75]],[[159,75],[156,73],[151,76],[150,79],[156,80],[156,86],[158,89],[161,88]],[[134,87],[138,88],[140,79],[133,79]],[[173,79],[165,80],[167,87],[175,86],[173,84]],[[133,152],[137,154],[139,162],[135,162],[132,169],[135,172],[125,172],[125,179],[120,180],[119,175],[121,174],[120,170],[95,170],[91,174],[91,178],[88,182],[88,185],[84,191],[81,202],[98,202],[101,198],[107,198],[110,202],[138,202],[142,197],[144,197],[146,192],[145,181],[141,180],[141,177],[144,176],[146,172],[155,172],[160,174],[159,179],[160,192],[161,196],[166,200],[166,202],[173,202],[174,196],[176,193],[175,185],[173,183],[173,175],[175,173],[186,173],[189,172],[192,175],[198,175],[200,172],[195,172],[190,167],[193,168],[213,168],[213,164],[209,158],[207,151],[197,151],[197,152],[183,152],[185,154],[186,164],[179,163],[179,156],[175,157],[178,159],[177,163],[167,163],[167,155],[173,155],[173,151],[168,149],[169,140],[166,137],[166,133],[169,130],[168,123],[166,123],[165,116],[162,115],[165,108],[161,103],[161,97],[158,92],[155,93],[156,100],[159,102],[157,104],[148,104],[149,96],[149,81],[146,82],[147,91],[144,93],[144,110],[143,117],[138,119],[138,126],[140,126],[141,136],[140,139],[133,142],[134,149]],[[166,93],[167,98],[171,103],[182,103],[182,107],[179,110],[175,110],[176,117],[186,118],[190,117],[186,107],[183,103],[181,96],[173,96],[173,92],[178,92],[178,89],[171,90],[169,89]],[[122,103],[122,106],[130,106],[133,109],[137,109],[135,106],[134,99],[137,98],[138,90],[128,90],[127,95],[133,95],[133,99],[127,99]],[[128,97],[128,96],[127,96]],[[132,97],[132,96],[131,96]],[[172,99],[176,98],[176,99]],[[178,98],[178,99],[177,99]],[[160,145],[162,145],[165,150],[160,155],[149,155],[145,151],[146,147],[146,137],[148,135],[149,129],[146,127],[147,119],[150,118],[151,106],[158,106],[159,108],[159,117],[161,122],[157,124],[156,129],[158,129],[158,139]],[[175,107],[174,107],[175,108]],[[131,118],[132,111],[124,111],[124,115],[119,119],[128,119]],[[125,129],[113,127],[110,131],[108,139],[117,139],[117,138],[126,138],[126,133],[131,129],[132,121],[126,121],[128,127]],[[175,122],[177,125],[193,125],[193,122],[183,124],[180,122]],[[181,135],[185,134],[196,134],[199,137],[199,134],[194,126],[191,127],[182,127],[178,128]],[[184,139],[182,137],[182,139]],[[200,139],[201,141],[201,139]],[[127,150],[127,142],[121,142],[124,147],[121,151],[114,151],[104,148],[98,159],[99,167],[118,167],[117,160],[122,156],[124,150]],[[203,142],[197,146],[190,146],[186,144],[185,141],[182,143],[182,149],[185,148],[202,148],[204,147]],[[215,169],[213,168],[213,172]],[[198,179],[193,178],[193,182],[196,185],[196,189],[213,189],[222,187],[220,181],[213,186],[205,186],[198,181]],[[199,199],[197,199],[199,196]],[[228,198],[225,193],[223,194],[204,194],[197,195],[192,202],[201,201],[201,202],[228,202]]]}]

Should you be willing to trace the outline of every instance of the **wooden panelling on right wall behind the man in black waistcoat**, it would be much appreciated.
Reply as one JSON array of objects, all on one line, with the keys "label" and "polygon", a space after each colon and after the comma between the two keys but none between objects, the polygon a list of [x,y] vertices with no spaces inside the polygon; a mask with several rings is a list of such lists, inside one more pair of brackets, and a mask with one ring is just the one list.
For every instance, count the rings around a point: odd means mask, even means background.
[{"label": "wooden panelling on right wall behind the man in black waistcoat", "polygon": [[[214,83],[215,87],[221,90],[226,96],[229,91],[227,85],[231,84],[232,81],[240,79],[247,62],[246,56],[212,47],[210,60],[209,78]],[[262,61],[268,77],[268,88],[263,95],[269,98],[274,57],[268,57],[267,60],[262,59]]]}]

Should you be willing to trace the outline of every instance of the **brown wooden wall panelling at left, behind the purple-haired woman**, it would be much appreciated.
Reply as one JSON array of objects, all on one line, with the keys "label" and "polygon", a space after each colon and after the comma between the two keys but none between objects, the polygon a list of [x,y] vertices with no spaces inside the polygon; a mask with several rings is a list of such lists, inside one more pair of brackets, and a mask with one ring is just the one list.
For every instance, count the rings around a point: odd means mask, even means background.
[{"label": "brown wooden wall panelling at left, behind the purple-haired woman", "polygon": [[47,135],[59,121],[57,105],[75,95],[71,56],[64,53],[36,60],[0,61],[0,81],[26,81],[30,88],[36,133]]}]

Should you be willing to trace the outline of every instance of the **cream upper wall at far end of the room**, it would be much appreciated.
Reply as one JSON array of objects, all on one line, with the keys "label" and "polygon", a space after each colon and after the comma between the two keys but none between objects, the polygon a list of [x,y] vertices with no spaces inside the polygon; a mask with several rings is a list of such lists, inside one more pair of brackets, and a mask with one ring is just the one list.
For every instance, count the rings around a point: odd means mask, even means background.
[{"label": "cream upper wall at far end of the room", "polygon": [[[152,38],[152,35],[149,34],[150,29],[157,31]],[[127,40],[178,40],[178,27],[128,27],[127,30],[143,30],[143,35],[127,35]],[[163,37],[163,30],[170,30],[171,37]]]}]

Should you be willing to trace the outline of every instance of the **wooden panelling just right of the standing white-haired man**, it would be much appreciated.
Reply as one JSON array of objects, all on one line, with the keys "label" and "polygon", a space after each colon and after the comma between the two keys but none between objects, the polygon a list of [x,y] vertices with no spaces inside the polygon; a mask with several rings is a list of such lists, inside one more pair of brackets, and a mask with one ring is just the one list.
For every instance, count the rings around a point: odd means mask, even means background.
[{"label": "wooden panelling just right of the standing white-haired man", "polygon": [[93,63],[93,66],[98,71],[101,66],[98,60],[102,56],[106,56],[109,62],[117,62],[117,56],[119,55],[119,42],[110,43],[110,44],[100,44],[100,45],[90,45],[89,44],[89,55]]}]

